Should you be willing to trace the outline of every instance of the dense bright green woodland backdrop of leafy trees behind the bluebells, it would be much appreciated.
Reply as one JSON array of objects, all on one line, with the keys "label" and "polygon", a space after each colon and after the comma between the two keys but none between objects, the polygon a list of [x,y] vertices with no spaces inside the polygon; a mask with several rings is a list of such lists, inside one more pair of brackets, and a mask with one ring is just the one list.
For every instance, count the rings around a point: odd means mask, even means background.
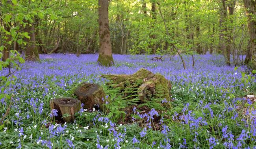
[{"label": "dense bright green woodland backdrop of leafy trees behind the bluebells", "polygon": [[[112,51],[175,55],[174,44],[180,53],[221,53],[228,65],[248,64],[255,51],[255,3],[110,0]],[[24,51],[30,41],[38,53],[79,56],[99,51],[98,0],[2,0],[0,5],[1,44],[6,51]],[[26,40],[25,31],[32,31],[35,39]],[[246,60],[239,55],[247,55]]]}]

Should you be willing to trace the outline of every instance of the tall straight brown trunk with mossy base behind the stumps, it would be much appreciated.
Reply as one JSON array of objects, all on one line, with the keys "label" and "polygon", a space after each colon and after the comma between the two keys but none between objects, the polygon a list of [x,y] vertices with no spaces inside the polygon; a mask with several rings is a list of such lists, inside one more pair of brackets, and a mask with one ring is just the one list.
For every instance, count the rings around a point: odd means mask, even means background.
[{"label": "tall straight brown trunk with mossy base behind the stumps", "polygon": [[100,53],[98,63],[103,66],[114,64],[108,21],[108,0],[98,0]]}]

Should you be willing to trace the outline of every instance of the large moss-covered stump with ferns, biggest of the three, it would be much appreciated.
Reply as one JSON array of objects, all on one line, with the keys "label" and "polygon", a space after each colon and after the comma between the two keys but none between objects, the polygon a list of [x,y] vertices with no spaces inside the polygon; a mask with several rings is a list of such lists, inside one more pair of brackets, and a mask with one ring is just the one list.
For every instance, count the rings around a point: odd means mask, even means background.
[{"label": "large moss-covered stump with ferns, biggest of the three", "polygon": [[[132,75],[102,75],[110,80],[107,85],[119,89],[126,100],[139,98],[137,104],[146,103],[154,99],[163,107],[169,107],[171,101],[171,82],[160,74],[154,74],[147,69],[139,69]],[[155,100],[158,99],[158,100]],[[162,100],[166,102],[162,103]],[[152,104],[152,107],[154,105]]]}]

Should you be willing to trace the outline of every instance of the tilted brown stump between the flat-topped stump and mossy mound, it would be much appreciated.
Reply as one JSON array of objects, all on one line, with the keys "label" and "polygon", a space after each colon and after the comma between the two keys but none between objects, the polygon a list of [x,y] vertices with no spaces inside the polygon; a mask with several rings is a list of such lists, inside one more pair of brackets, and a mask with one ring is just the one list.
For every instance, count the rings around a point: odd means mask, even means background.
[{"label": "tilted brown stump between the flat-topped stump and mossy mound", "polygon": [[[89,110],[100,109],[104,111],[104,101],[102,98],[106,97],[103,88],[97,84],[83,83],[75,90],[74,94],[78,100],[83,103],[83,108]],[[106,101],[107,99],[105,99]]]}]

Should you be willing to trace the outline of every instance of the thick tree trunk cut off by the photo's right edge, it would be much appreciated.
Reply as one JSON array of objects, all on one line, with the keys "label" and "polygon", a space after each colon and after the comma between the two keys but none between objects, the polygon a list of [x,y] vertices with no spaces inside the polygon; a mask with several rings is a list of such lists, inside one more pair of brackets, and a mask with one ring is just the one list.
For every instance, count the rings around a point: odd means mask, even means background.
[{"label": "thick tree trunk cut off by the photo's right edge", "polygon": [[[250,47],[247,50],[246,57],[245,57],[245,64],[249,64],[250,61],[254,61],[252,63],[255,64],[256,69],[256,20],[254,16],[256,16],[256,0],[243,0],[245,6],[245,12],[248,19],[248,29],[250,35]],[[254,58],[253,58],[254,57]]]}]

